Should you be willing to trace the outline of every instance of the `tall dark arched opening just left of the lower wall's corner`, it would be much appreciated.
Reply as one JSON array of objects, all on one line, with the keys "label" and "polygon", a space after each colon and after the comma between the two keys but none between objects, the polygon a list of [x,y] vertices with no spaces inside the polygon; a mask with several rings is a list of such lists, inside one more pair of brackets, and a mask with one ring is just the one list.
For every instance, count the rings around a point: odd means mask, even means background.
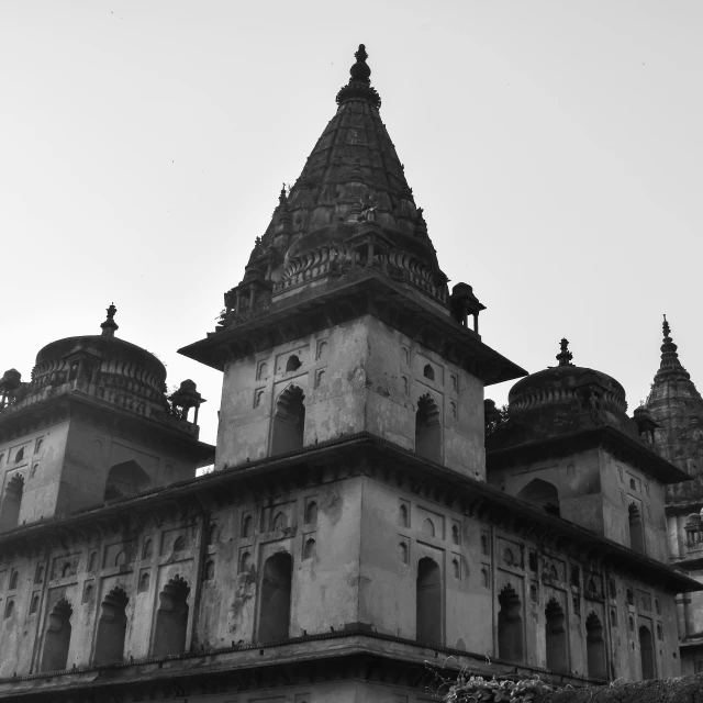
[{"label": "tall dark arched opening just left of the lower wall's corner", "polygon": [[279,551],[264,563],[259,604],[258,640],[288,639],[293,560]]}]

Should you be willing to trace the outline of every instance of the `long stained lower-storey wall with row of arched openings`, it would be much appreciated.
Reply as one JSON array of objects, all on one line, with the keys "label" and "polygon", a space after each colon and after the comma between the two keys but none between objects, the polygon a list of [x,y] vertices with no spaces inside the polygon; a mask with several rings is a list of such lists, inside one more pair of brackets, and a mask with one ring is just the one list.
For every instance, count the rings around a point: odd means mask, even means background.
[{"label": "long stained lower-storey wall with row of arched openings", "polygon": [[437,645],[496,657],[499,595],[510,585],[520,598],[526,665],[547,665],[545,609],[555,599],[566,617],[573,673],[588,672],[591,613],[603,625],[612,676],[641,676],[643,624],[655,637],[658,676],[679,672],[673,594],[399,487],[356,477],[234,501],[200,515],[158,513],[138,529],[77,532],[65,548],[3,561],[0,674],[37,670],[49,613],[62,599],[72,609],[67,667],[90,663],[101,604],[116,588],[129,598],[124,657],[148,656],[160,594],[179,579],[190,589],[187,650],[257,641],[265,562],[278,553],[292,558],[290,636],[361,623],[415,639],[419,563],[429,557],[440,574]]}]

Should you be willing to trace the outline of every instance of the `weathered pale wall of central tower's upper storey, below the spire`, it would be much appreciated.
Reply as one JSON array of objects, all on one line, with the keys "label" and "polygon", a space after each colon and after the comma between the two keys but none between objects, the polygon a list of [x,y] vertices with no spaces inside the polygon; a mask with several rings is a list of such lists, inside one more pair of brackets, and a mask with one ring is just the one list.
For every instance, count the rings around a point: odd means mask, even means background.
[{"label": "weathered pale wall of central tower's upper storey, below the spire", "polygon": [[[300,367],[287,371],[292,356]],[[305,395],[304,445],[368,431],[414,449],[417,403],[429,394],[440,423],[436,460],[484,478],[482,383],[370,315],[230,364],[216,468],[269,455],[290,387]]]}]

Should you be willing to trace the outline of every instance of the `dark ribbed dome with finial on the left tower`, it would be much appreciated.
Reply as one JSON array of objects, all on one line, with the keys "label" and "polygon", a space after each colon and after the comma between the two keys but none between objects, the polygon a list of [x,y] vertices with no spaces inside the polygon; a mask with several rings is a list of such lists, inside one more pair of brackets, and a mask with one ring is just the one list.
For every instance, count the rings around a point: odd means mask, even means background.
[{"label": "dark ribbed dome with finial on the left tower", "polygon": [[166,382],[166,367],[150,353],[114,336],[116,308],[110,305],[102,334],[57,339],[36,355],[32,371],[34,383],[42,384],[52,375],[70,375],[71,357],[88,357],[90,365],[100,364],[100,373],[122,377],[159,393]]}]

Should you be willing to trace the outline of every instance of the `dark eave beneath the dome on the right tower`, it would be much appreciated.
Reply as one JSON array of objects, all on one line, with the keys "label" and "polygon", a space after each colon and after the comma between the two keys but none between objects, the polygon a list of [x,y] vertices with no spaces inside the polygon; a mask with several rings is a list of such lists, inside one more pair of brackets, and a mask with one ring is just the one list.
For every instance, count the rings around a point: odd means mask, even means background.
[{"label": "dark eave beneath the dome on the right tower", "polygon": [[599,447],[616,459],[626,461],[660,483],[680,483],[691,477],[633,437],[611,425],[545,437],[486,453],[487,470],[503,469],[544,458],[563,457],[576,451]]}]

